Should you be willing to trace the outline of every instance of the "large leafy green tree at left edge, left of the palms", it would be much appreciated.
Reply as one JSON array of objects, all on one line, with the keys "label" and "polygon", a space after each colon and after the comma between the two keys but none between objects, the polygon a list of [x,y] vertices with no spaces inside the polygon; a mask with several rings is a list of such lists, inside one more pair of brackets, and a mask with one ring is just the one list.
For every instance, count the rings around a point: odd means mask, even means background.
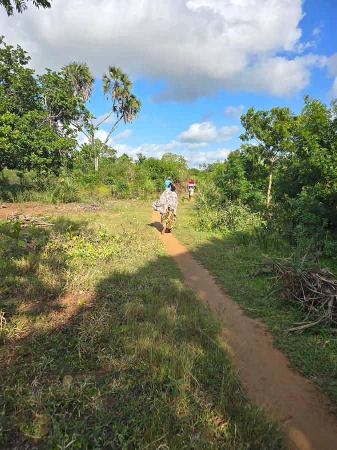
[{"label": "large leafy green tree at left edge, left of the palms", "polygon": [[0,44],[0,169],[57,173],[77,144],[72,122],[87,121],[83,99],[59,73],[34,76],[21,47]]}]

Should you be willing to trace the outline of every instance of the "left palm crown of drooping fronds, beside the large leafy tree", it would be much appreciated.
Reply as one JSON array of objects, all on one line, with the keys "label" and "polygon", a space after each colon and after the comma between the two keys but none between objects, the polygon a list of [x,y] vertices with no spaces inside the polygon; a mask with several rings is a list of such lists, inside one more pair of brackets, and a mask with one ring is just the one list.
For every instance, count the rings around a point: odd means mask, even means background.
[{"label": "left palm crown of drooping fronds, beside the large leafy tree", "polygon": [[65,76],[70,78],[74,95],[81,94],[86,100],[89,100],[95,78],[86,62],[71,61],[64,65],[61,70]]}]

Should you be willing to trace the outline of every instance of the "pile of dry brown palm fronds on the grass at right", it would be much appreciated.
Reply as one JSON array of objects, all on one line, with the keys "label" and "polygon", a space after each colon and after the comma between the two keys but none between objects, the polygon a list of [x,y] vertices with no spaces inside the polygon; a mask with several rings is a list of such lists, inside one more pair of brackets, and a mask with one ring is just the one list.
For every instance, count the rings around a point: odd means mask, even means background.
[{"label": "pile of dry brown palm fronds on the grass at right", "polygon": [[291,259],[270,261],[275,286],[280,296],[302,303],[307,315],[289,331],[302,333],[317,323],[326,321],[337,330],[337,279],[327,268],[310,269],[296,266]]}]

